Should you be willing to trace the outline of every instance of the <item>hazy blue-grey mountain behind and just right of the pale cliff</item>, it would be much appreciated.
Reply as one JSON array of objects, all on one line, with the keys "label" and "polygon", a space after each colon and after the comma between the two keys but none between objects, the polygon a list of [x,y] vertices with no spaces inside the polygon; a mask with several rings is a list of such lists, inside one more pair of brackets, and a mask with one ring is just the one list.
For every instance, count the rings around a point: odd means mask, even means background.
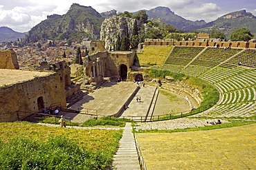
[{"label": "hazy blue-grey mountain behind and just right of the pale cliff", "polygon": [[[168,23],[177,30],[192,31],[201,28],[201,25],[205,24],[205,21],[190,21],[183,17],[174,14],[170,8],[158,6],[152,10],[145,10],[149,19],[162,19],[165,23]],[[137,12],[134,12],[136,14]]]}]

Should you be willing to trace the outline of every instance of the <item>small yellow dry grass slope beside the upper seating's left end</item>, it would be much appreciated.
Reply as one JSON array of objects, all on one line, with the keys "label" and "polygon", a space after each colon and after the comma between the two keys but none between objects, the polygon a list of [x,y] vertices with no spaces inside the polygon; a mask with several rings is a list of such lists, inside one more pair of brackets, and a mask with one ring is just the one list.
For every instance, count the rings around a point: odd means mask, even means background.
[{"label": "small yellow dry grass slope beside the upper seating's left end", "polygon": [[137,54],[142,65],[162,65],[172,47],[170,46],[145,46],[143,54]]}]

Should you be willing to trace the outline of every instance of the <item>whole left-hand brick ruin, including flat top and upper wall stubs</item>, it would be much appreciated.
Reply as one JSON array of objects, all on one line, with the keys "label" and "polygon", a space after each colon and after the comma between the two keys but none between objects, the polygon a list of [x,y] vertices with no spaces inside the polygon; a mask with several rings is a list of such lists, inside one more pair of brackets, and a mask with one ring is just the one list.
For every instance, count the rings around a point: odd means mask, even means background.
[{"label": "whole left-hand brick ruin, including flat top and upper wall stubs", "polygon": [[0,122],[26,118],[46,107],[66,108],[66,98],[80,90],[80,85],[72,85],[65,61],[55,63],[54,71],[48,71],[47,63],[41,65],[44,71],[28,71],[15,70],[19,65],[12,50],[1,51],[0,56],[8,63],[0,70]]}]

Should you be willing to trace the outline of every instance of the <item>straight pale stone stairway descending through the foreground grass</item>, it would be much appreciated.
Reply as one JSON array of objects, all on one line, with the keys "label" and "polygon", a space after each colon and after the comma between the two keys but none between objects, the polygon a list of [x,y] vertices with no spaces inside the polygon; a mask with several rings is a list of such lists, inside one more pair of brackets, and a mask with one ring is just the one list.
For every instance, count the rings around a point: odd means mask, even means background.
[{"label": "straight pale stone stairway descending through the foreground grass", "polygon": [[126,123],[125,130],[119,144],[119,149],[116,152],[116,155],[113,156],[113,169],[140,170],[131,123]]}]

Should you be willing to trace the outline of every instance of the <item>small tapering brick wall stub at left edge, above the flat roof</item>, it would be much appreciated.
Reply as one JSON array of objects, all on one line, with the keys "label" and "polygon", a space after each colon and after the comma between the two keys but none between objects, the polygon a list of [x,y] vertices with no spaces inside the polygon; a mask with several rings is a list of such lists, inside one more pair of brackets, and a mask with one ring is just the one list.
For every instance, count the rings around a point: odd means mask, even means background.
[{"label": "small tapering brick wall stub at left edge, above the flat roof", "polygon": [[19,69],[17,55],[13,50],[0,51],[0,69]]}]

